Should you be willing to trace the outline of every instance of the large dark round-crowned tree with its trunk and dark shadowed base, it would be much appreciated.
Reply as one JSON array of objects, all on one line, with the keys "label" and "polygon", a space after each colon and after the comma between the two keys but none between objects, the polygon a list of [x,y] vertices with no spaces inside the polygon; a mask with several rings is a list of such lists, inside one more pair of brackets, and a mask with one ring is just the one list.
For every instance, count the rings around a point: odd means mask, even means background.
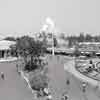
[{"label": "large dark round-crowned tree with its trunk and dark shadowed base", "polygon": [[23,36],[17,39],[15,50],[24,59],[25,70],[32,71],[38,67],[42,67],[40,56],[44,55],[46,50],[43,42]]}]

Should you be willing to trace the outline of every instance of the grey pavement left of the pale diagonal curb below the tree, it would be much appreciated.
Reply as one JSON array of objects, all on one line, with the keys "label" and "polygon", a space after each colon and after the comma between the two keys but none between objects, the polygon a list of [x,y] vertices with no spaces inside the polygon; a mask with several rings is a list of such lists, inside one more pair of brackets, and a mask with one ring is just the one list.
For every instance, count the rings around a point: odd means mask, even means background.
[{"label": "grey pavement left of the pale diagonal curb below the tree", "polygon": [[15,63],[1,63],[0,71],[5,74],[5,80],[0,78],[1,100],[33,100],[33,94],[18,75]]}]

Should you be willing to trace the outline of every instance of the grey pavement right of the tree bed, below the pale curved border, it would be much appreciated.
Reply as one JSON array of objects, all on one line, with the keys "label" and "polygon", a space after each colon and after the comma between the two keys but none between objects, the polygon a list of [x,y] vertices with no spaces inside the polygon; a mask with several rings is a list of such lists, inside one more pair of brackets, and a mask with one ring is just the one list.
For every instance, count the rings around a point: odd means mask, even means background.
[{"label": "grey pavement right of the tree bed, below the pale curved border", "polygon": [[[89,85],[84,94],[82,92],[82,81],[70,72],[64,71],[64,63],[66,67],[73,65],[73,58],[70,57],[52,57],[49,58],[49,77],[51,79],[49,85],[53,94],[53,100],[61,100],[62,93],[69,95],[69,100],[100,100],[100,91]],[[78,74],[79,75],[79,74]],[[66,79],[70,79],[70,86],[66,85]]]}]

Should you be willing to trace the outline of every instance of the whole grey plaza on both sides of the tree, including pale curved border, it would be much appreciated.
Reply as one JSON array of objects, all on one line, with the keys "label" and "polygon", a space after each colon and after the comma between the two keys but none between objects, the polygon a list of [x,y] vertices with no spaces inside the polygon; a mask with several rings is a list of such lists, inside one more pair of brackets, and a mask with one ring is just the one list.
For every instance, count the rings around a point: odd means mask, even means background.
[{"label": "whole grey plaza on both sides of the tree, including pale curved border", "polygon": [[[98,82],[78,72],[73,66],[74,58],[48,55],[47,60],[50,78],[49,87],[54,100],[61,100],[64,92],[68,93],[71,100],[100,99],[100,90],[95,87]],[[32,100],[33,94],[25,80],[17,73],[16,63],[18,62],[5,61],[0,64],[0,71],[5,73],[5,80],[0,79],[0,97],[2,100]],[[70,80],[69,86],[66,85],[66,79]],[[83,81],[89,83],[85,95],[82,92]],[[42,98],[42,100],[45,100],[45,98]]]}]

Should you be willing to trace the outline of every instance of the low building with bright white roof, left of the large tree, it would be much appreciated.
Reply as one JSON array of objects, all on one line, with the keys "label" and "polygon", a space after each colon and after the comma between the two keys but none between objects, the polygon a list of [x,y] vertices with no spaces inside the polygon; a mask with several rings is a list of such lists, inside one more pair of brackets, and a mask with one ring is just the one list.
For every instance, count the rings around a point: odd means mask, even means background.
[{"label": "low building with bright white roof, left of the large tree", "polygon": [[12,55],[10,46],[14,44],[16,44],[14,41],[0,40],[0,58],[10,57]]}]

